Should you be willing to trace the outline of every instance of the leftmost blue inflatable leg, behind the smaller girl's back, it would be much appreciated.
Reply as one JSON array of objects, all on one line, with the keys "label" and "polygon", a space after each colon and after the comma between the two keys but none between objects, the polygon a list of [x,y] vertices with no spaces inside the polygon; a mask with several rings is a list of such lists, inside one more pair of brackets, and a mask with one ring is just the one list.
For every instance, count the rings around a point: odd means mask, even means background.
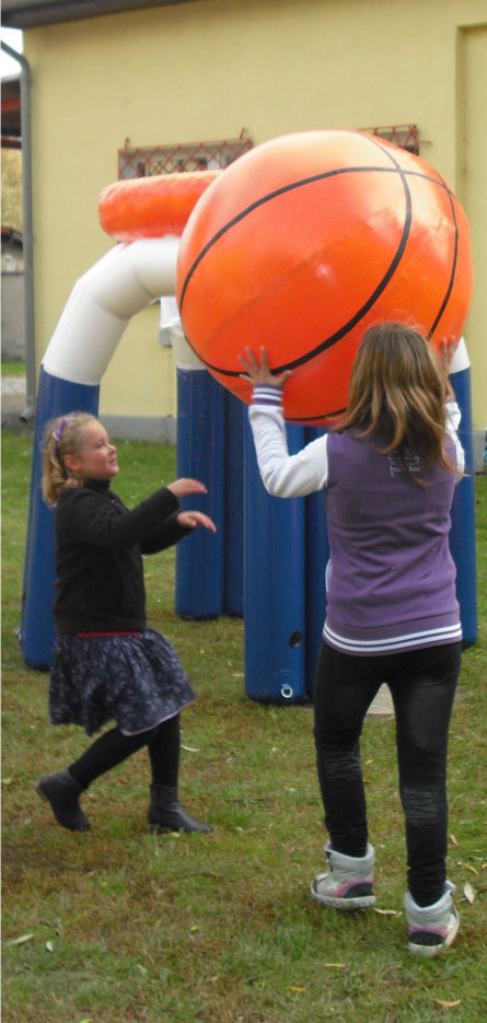
[{"label": "leftmost blue inflatable leg, behind the smaller girl's back", "polygon": [[68,412],[97,416],[98,391],[97,386],[73,384],[40,369],[20,629],[25,663],[37,671],[49,670],[54,644],[54,512],[44,503],[40,491],[44,430],[50,419]]}]

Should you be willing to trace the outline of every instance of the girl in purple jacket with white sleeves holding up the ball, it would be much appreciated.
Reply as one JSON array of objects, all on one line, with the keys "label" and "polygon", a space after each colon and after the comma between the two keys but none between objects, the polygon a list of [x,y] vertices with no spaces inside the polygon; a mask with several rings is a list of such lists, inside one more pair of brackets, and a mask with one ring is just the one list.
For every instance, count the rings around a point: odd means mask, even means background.
[{"label": "girl in purple jacket with white sleeves holding up the ball", "polygon": [[278,497],[326,491],[331,560],[314,688],[314,737],[328,871],[311,884],[323,906],[373,906],[359,740],[387,683],[396,717],[406,821],[408,949],[432,956],[459,917],[447,880],[447,746],[462,630],[449,548],[450,508],[463,473],[448,384],[451,346],[438,360],[419,330],[383,323],[364,334],[347,411],[335,429],[289,455],[281,392],[265,349],[241,357],[264,485]]}]

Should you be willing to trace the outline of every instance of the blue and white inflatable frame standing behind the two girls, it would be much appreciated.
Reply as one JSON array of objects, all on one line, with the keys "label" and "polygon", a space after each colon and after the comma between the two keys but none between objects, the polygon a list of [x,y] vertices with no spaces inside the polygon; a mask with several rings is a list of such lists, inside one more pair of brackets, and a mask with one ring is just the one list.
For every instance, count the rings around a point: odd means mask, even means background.
[{"label": "blue and white inflatable frame standing behind the two girls", "polygon": [[[185,210],[182,217],[187,216]],[[44,428],[74,408],[97,415],[100,382],[129,319],[152,301],[175,294],[184,224],[172,226],[174,233],[160,226],[163,236],[117,244],[77,281],[43,360],[21,618],[21,646],[30,667],[48,670],[54,642],[54,516],[40,497]],[[323,495],[279,501],[265,492],[245,405],[206,372],[184,339],[177,312],[166,328],[178,382],[177,475],[207,483],[210,503],[205,509],[218,525],[217,539],[198,531],[176,548],[176,612],[187,618],[243,613],[247,696],[299,701],[312,696],[326,608]],[[469,363],[463,339],[451,379],[462,409],[469,474],[456,490],[451,547],[464,641],[472,644],[477,631],[475,525]],[[291,451],[318,432],[294,425],[287,430]]]}]

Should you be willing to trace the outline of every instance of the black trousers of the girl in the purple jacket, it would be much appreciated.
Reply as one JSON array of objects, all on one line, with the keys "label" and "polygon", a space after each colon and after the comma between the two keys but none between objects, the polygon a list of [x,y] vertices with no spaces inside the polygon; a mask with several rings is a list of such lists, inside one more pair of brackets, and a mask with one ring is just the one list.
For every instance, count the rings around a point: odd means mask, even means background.
[{"label": "black trousers of the girl in the purple jacket", "polygon": [[462,644],[385,656],[341,653],[323,642],[314,688],[314,739],[325,824],[333,848],[362,857],[367,806],[359,739],[367,711],[387,683],[396,718],[408,887],[419,906],[440,898],[447,856],[448,731]]}]

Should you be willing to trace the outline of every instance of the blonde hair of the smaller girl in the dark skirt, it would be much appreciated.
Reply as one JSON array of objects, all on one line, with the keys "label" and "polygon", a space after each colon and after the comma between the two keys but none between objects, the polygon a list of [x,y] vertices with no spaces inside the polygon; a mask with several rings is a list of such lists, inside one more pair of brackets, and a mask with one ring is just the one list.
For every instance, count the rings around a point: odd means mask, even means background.
[{"label": "blonde hair of the smaller girl in the dark skirt", "polygon": [[89,412],[70,412],[47,423],[44,433],[43,498],[54,505],[67,487],[81,487],[83,480],[68,469],[66,455],[78,455],[84,427],[98,420]]}]

